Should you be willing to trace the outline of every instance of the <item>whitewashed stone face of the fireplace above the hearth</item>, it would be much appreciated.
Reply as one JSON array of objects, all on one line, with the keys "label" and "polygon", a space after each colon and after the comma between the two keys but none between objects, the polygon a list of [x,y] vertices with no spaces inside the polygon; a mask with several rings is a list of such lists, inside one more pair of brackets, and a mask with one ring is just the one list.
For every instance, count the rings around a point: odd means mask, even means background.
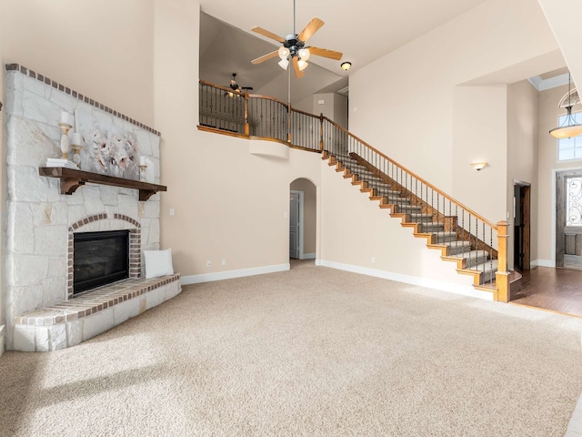
[{"label": "whitewashed stone face of the fireplace above the hearth", "polygon": [[[66,196],[60,194],[58,179],[39,176],[46,158],[60,158],[61,112],[85,109],[101,122],[135,134],[139,154],[155,164],[156,184],[160,137],[156,130],[23,66],[6,66],[5,86],[3,286],[6,349],[13,349],[16,316],[69,299],[72,232],[130,229],[140,234],[141,239],[134,239],[141,243],[140,252],[159,249],[159,194],[140,202],[136,189],[86,184]],[[91,220],[95,216],[100,219]]]}]

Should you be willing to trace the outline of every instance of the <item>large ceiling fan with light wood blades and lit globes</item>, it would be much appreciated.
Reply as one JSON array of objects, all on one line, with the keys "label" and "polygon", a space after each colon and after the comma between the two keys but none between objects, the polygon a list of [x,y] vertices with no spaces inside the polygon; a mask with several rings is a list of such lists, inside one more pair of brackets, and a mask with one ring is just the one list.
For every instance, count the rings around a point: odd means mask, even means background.
[{"label": "large ceiling fan with light wood blades and lit globes", "polygon": [[265,62],[267,59],[271,59],[272,57],[276,57],[277,55],[281,58],[279,61],[279,66],[284,70],[287,69],[289,66],[289,58],[293,63],[293,69],[295,70],[296,77],[303,77],[305,73],[303,70],[306,69],[308,66],[307,59],[309,56],[316,55],[316,56],[323,56],[328,57],[330,59],[336,59],[339,61],[342,58],[342,54],[340,52],[335,52],[333,50],[327,50],[326,48],[318,48],[312,46],[306,46],[307,40],[313,36],[317,30],[324,25],[324,22],[321,21],[319,18],[313,18],[301,31],[301,33],[296,34],[295,30],[295,0],[293,2],[293,33],[287,35],[285,38],[282,36],[278,36],[273,32],[269,32],[268,30],[262,27],[253,27],[251,30],[260,34],[262,36],[266,36],[268,38],[274,39],[276,42],[281,43],[283,46],[279,47],[278,50],[268,53],[265,56],[257,57],[253,59],[251,62],[253,64],[260,64]]}]

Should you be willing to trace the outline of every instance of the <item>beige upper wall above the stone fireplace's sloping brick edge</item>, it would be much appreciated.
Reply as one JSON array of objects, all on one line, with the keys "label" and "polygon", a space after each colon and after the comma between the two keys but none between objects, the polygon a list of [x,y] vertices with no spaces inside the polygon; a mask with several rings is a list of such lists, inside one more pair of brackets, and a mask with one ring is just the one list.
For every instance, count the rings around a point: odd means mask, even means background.
[{"label": "beige upper wall above the stone fireplace's sloping brick edge", "polygon": [[5,63],[154,124],[153,0],[2,3]]}]

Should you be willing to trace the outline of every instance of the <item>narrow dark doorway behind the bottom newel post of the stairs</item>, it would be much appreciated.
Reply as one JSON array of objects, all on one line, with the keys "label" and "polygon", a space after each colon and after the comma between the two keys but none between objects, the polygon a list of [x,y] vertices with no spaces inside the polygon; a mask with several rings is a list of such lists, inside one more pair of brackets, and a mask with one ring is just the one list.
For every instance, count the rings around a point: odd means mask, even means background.
[{"label": "narrow dark doorway behind the bottom newel post of the stairs", "polygon": [[531,185],[527,182],[514,183],[514,269],[531,269]]}]

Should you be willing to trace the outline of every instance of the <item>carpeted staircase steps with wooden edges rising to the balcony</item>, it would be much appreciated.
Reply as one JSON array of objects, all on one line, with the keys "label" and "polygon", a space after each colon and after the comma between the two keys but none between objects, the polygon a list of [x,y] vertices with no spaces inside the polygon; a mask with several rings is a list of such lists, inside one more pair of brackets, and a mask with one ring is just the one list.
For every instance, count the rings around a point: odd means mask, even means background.
[{"label": "carpeted staircase steps with wooden edges rising to the balcony", "polygon": [[447,215],[440,199],[438,207],[430,205],[422,195],[419,197],[356,153],[324,151],[322,159],[370,200],[377,201],[380,208],[388,209],[390,217],[401,219],[402,226],[411,228],[416,238],[426,239],[428,249],[440,250],[441,259],[456,262],[459,274],[473,276],[475,288],[497,289],[497,250],[458,225],[458,209],[455,215]]}]

